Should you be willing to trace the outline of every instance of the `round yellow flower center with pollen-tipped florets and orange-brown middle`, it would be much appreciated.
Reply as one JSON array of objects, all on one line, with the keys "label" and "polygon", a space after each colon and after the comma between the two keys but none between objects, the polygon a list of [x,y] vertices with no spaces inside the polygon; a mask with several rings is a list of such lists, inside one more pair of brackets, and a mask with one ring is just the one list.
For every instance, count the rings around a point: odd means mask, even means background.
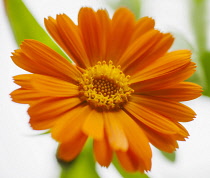
[{"label": "round yellow flower center with pollen-tipped florets and orange-brown middle", "polygon": [[119,109],[134,92],[129,87],[129,78],[112,61],[108,64],[99,61],[95,66],[86,69],[79,79],[81,99],[95,109]]}]

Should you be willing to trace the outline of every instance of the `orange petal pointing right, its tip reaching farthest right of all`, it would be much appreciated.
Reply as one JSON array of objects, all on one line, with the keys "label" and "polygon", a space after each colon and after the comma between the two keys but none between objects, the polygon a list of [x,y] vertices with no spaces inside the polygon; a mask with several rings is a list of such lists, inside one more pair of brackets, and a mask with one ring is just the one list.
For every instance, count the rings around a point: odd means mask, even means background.
[{"label": "orange petal pointing right, its tip reaching farthest right of all", "polygon": [[169,88],[141,93],[173,101],[188,101],[201,96],[202,87],[191,82],[181,82]]}]

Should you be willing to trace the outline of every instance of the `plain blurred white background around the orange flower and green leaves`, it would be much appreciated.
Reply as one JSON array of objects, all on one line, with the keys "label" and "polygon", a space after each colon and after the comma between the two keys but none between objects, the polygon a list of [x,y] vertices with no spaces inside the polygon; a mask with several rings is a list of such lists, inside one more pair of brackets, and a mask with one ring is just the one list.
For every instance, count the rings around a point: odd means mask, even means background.
[{"label": "plain blurred white background around the orange flower and green leaves", "polygon": [[[107,8],[105,0],[24,0],[31,12],[43,26],[47,16],[66,13],[75,22],[81,6],[94,9]],[[176,32],[194,43],[188,21],[190,0],[145,0],[142,13],[156,20],[156,27],[164,32]],[[108,9],[112,14],[112,10]],[[210,22],[209,22],[210,23]],[[186,47],[185,45],[175,48]],[[7,18],[0,1],[0,178],[58,178],[59,166],[55,160],[57,143],[50,135],[37,136],[26,114],[27,106],[11,102],[9,93],[17,88],[12,76],[25,73],[15,66],[11,52],[16,49]],[[180,142],[175,163],[165,160],[154,149],[151,178],[208,178],[210,177],[210,99],[200,97],[187,102],[197,112],[197,118],[185,127],[190,132],[186,142]],[[98,166],[99,168],[99,166]],[[111,169],[100,170],[101,177],[118,178]]]}]

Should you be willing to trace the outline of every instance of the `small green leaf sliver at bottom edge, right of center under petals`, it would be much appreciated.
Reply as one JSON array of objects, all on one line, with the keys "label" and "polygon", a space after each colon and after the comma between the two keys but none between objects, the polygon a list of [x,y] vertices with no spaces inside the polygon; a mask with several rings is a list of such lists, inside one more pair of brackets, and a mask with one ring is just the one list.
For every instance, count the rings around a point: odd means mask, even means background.
[{"label": "small green leaf sliver at bottom edge, right of center under petals", "polygon": [[121,165],[119,164],[116,157],[114,157],[112,163],[114,164],[115,168],[119,171],[123,178],[149,178],[146,174],[141,174],[140,172],[130,173],[125,171]]}]

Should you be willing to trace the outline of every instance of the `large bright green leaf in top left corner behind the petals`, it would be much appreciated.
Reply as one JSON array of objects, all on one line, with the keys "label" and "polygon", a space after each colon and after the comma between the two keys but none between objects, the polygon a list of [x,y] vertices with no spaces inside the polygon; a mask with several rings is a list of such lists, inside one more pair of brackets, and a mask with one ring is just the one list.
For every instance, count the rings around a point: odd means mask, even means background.
[{"label": "large bright green leaf in top left corner behind the petals", "polygon": [[[22,0],[4,0],[6,14],[18,46],[24,39],[35,39],[51,47],[66,59],[66,55],[38,24]],[[43,19],[44,21],[44,19]]]}]

